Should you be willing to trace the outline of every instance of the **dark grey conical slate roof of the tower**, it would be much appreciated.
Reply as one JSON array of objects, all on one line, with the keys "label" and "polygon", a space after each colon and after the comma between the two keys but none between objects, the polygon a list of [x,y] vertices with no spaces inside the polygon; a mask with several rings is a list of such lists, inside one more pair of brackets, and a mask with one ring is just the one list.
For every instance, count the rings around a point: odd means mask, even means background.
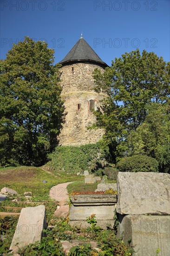
[{"label": "dark grey conical slate roof of the tower", "polygon": [[97,62],[102,66],[107,67],[107,64],[100,59],[98,54],[90,47],[90,45],[85,41],[84,38],[80,38],[78,42],[72,47],[70,52],[65,56],[65,58],[60,61],[60,64],[68,64],[68,62],[80,62],[80,61],[90,61]]}]

